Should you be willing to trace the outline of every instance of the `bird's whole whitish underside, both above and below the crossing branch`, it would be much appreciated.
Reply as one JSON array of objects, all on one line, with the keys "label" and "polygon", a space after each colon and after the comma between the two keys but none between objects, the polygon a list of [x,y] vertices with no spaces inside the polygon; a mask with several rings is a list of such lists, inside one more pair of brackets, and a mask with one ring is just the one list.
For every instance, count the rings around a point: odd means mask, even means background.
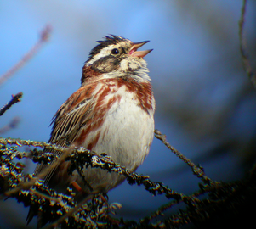
[{"label": "bird's whole whitish underside, both above and below the crossing branch", "polygon": [[[128,170],[136,170],[149,153],[154,135],[154,110],[146,113],[138,106],[133,93],[124,92],[121,88],[119,90],[122,91],[122,98],[113,103],[105,114],[103,125],[87,137],[83,147],[87,148],[89,142],[92,142],[100,131],[99,140],[92,150],[97,154],[110,155],[114,162],[125,166]],[[117,94],[118,92],[112,96]],[[124,180],[124,176],[106,170],[88,167],[83,171],[87,182],[95,192],[106,193]],[[82,185],[81,178],[77,176],[77,179]]]}]

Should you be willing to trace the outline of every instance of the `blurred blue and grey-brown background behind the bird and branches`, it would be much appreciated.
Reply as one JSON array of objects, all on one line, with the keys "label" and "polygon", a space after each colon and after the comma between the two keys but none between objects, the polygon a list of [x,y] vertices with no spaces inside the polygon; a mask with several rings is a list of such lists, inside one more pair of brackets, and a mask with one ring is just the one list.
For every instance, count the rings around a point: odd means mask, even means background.
[{"label": "blurred blue and grey-brown background behind the bird and branches", "polygon": [[[256,3],[248,1],[245,32],[256,71]],[[234,181],[255,163],[256,91],[242,68],[238,21],[242,1],[1,1],[0,75],[8,71],[51,25],[49,42],[8,81],[0,85],[0,106],[23,92],[0,119],[0,128],[18,116],[2,137],[48,141],[50,120],[80,87],[82,65],[94,41],[115,34],[145,49],[156,97],[156,129],[206,175]],[[28,172],[35,165],[25,161]],[[198,188],[191,169],[156,138],[138,173],[181,193]],[[122,204],[117,217],[139,220],[168,202],[144,187],[124,182],[109,193]],[[26,227],[28,208],[14,199],[0,202],[1,228]],[[13,220],[15,219],[15,221]]]}]

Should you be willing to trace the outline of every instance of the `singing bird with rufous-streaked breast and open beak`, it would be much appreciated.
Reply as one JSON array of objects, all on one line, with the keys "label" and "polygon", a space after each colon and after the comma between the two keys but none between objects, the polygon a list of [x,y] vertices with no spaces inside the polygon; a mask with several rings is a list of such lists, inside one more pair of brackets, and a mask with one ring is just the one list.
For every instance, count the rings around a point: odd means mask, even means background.
[{"label": "singing bird with rufous-streaked breast and open beak", "polygon": [[[156,102],[144,59],[152,49],[138,51],[147,42],[116,35],[97,41],[82,67],[81,87],[54,115],[49,143],[105,153],[118,165],[137,170],[149,154],[155,125]],[[83,168],[83,177],[76,170],[70,175],[69,165],[65,161],[49,170],[45,184],[65,193],[75,183],[83,196],[89,196],[108,193],[125,180],[115,172],[90,166]],[[35,176],[48,166],[38,164]],[[28,215],[27,221],[33,216]]]}]

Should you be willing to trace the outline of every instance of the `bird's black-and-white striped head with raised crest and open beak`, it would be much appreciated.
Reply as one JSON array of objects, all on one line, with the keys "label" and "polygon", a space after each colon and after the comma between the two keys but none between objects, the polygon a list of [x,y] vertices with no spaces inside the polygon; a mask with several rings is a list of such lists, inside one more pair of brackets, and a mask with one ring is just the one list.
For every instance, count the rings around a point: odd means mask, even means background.
[{"label": "bird's black-and-white striped head with raised crest and open beak", "polygon": [[83,67],[82,82],[91,75],[103,78],[133,77],[136,81],[149,81],[146,62],[143,59],[152,49],[138,51],[149,41],[131,42],[121,36],[105,36],[89,53]]}]

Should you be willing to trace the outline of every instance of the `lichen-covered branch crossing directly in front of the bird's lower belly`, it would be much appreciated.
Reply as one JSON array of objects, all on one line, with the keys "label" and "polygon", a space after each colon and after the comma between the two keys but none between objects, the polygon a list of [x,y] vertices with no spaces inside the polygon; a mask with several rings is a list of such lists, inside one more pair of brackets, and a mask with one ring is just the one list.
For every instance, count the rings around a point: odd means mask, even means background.
[{"label": "lichen-covered branch crossing directly in front of the bird's lower belly", "polygon": [[[1,137],[0,137],[0,144],[42,147],[42,148],[45,148],[45,150],[50,150],[53,153],[57,151],[63,153],[66,149],[66,148],[59,147],[57,145],[48,144],[45,142],[36,142],[36,141],[30,141],[30,140],[26,141],[26,140],[10,139],[10,138],[6,139]],[[35,151],[36,149],[34,149],[34,152]],[[15,154],[17,154],[17,152],[15,152]],[[21,156],[21,154],[19,154],[19,156]],[[159,195],[159,194],[165,193],[167,198],[174,198],[179,201],[180,200],[191,201],[191,198],[187,198],[182,193],[175,192],[174,190],[168,188],[167,186],[164,186],[161,182],[152,182],[149,176],[139,175],[133,171],[127,170],[125,167],[121,165],[117,165],[117,163],[111,160],[111,157],[105,154],[99,155],[94,152],[90,152],[84,148],[79,148],[79,149],[74,148],[71,155],[67,156],[66,160],[71,160],[71,163],[73,164],[79,161],[79,165],[82,165],[82,166],[88,163],[89,165],[95,168],[102,168],[105,170],[109,170],[111,172],[116,172],[120,175],[125,176],[129,184],[136,183],[137,185],[144,185],[145,189],[148,190],[153,195],[156,195],[156,194]]]}]

